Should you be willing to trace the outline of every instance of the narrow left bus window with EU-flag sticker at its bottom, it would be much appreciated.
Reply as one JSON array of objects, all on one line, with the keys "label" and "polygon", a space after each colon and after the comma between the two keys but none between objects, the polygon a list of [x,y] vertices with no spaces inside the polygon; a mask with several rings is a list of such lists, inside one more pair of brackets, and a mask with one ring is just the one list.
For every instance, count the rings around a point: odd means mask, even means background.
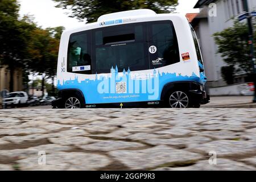
[{"label": "narrow left bus window with EU-flag sticker at its bottom", "polygon": [[68,72],[92,74],[88,32],[72,34],[68,44]]}]

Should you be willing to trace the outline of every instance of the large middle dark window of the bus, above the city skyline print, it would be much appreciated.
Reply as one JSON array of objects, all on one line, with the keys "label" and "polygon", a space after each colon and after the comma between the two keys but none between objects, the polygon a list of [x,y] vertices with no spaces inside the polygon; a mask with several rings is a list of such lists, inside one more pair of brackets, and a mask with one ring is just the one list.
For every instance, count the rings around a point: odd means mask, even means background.
[{"label": "large middle dark window of the bus, above the city skyline print", "polygon": [[149,68],[147,30],[145,23],[133,23],[98,28],[93,32],[93,57],[97,73],[144,70]]}]

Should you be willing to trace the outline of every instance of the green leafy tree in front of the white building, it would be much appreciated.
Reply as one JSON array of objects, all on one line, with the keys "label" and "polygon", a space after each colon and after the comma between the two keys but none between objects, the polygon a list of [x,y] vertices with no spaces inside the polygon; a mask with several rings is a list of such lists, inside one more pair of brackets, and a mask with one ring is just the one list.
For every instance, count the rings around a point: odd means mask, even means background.
[{"label": "green leafy tree in front of the white building", "polygon": [[[256,28],[256,27],[255,27]],[[254,39],[256,29],[254,28]],[[248,28],[246,23],[234,22],[234,26],[213,34],[224,62],[233,66],[235,71],[250,73],[251,60],[248,45]],[[256,40],[256,39],[255,39]],[[254,41],[255,45],[255,41]]]}]

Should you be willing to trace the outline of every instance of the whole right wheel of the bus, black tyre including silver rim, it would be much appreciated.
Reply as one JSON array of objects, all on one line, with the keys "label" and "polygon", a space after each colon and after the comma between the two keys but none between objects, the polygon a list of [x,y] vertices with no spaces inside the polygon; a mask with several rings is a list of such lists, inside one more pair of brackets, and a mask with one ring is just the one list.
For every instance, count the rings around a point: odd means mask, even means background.
[{"label": "whole right wheel of the bus, black tyre including silver rim", "polygon": [[166,97],[166,105],[171,108],[188,108],[190,106],[189,95],[181,90],[172,90]]}]

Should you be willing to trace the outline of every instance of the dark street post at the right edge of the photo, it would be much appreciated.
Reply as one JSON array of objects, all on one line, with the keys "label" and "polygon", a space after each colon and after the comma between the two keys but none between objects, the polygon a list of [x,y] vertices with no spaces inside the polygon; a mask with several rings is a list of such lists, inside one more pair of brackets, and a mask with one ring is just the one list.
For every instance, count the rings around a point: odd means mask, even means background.
[{"label": "dark street post at the right edge of the photo", "polygon": [[[243,7],[246,11],[246,13],[249,13],[249,7],[248,7],[248,3],[247,0],[243,0]],[[251,23],[251,15],[249,13],[249,15],[246,17],[247,18],[247,23],[248,23],[248,28],[249,28],[249,46],[250,46],[250,60],[251,60],[251,64],[252,64],[252,77],[253,77],[253,81],[254,81],[254,98],[253,98],[253,102],[256,102],[256,61],[255,61],[255,57],[254,57],[254,48],[253,48],[253,25]]]}]

